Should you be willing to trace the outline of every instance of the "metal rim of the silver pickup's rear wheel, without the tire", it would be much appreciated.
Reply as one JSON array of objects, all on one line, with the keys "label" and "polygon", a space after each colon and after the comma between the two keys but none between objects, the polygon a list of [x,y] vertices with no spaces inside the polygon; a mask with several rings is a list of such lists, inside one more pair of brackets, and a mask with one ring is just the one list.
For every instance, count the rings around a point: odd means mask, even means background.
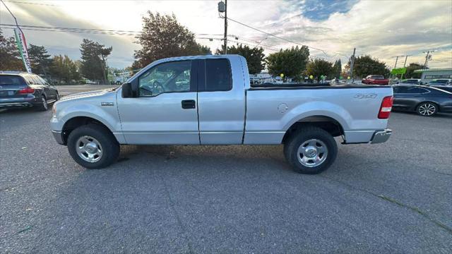
[{"label": "metal rim of the silver pickup's rear wheel, without the tire", "polygon": [[328,148],[321,140],[307,140],[298,147],[297,157],[304,167],[317,167],[325,162]]}]

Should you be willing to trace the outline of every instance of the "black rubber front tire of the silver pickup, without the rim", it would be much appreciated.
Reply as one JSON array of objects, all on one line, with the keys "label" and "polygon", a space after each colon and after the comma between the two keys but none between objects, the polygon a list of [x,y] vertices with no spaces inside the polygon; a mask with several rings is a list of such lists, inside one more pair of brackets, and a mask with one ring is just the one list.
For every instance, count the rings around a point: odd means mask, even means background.
[{"label": "black rubber front tire of the silver pickup, without the rim", "polygon": [[[76,146],[79,138],[83,136],[95,138],[102,146],[102,157],[97,162],[88,162],[78,155]],[[87,169],[102,169],[116,162],[119,156],[119,143],[109,129],[95,123],[80,126],[73,130],[68,137],[68,150],[71,157]]]}]

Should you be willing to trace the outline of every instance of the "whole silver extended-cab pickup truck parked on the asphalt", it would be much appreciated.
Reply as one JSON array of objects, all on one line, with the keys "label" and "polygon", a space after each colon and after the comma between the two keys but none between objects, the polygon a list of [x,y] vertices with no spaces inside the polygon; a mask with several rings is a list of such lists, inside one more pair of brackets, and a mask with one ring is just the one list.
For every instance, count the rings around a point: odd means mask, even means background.
[{"label": "whole silver extended-cab pickup truck parked on the asphalt", "polygon": [[280,145],[292,167],[319,173],[344,144],[382,143],[393,91],[378,85],[251,86],[237,55],[150,63],[113,90],[54,104],[52,133],[89,169],[107,167],[119,145]]}]

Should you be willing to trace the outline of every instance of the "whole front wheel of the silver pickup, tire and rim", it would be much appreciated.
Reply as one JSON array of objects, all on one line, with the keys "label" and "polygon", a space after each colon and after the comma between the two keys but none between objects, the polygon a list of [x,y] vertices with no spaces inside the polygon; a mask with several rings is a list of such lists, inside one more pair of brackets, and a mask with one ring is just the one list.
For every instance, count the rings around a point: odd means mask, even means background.
[{"label": "whole front wheel of the silver pickup, tire and rim", "polygon": [[119,143],[114,135],[94,123],[73,130],[67,144],[71,157],[88,169],[107,167],[119,156]]}]

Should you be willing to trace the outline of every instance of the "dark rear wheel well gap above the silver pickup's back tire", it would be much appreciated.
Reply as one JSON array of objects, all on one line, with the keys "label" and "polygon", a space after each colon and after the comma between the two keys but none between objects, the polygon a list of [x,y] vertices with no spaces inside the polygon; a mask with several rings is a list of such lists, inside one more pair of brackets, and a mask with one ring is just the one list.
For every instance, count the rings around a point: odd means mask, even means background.
[{"label": "dark rear wheel well gap above the silver pickup's back tire", "polygon": [[283,143],[285,143],[287,138],[290,138],[290,135],[296,133],[300,128],[303,128],[304,126],[314,126],[322,128],[323,130],[330,133],[333,137],[344,135],[343,127],[335,119],[332,119],[329,116],[308,116],[307,118],[301,119],[290,126],[290,128],[285,132]]}]

